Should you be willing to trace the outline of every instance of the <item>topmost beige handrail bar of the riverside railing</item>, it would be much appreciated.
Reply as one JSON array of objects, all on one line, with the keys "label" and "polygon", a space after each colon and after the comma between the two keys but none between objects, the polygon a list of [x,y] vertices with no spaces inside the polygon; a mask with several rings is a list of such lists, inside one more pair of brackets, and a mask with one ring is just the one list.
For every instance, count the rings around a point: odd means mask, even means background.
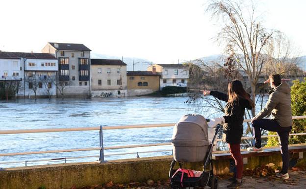
[{"label": "topmost beige handrail bar of the riverside railing", "polygon": [[[306,119],[306,115],[292,116],[292,119]],[[243,122],[251,122],[251,119],[245,119]],[[176,123],[165,124],[147,124],[147,125],[126,125],[126,126],[103,126],[103,130],[109,129],[136,129],[136,128],[151,128],[151,127],[171,127]],[[65,132],[65,131],[92,131],[99,130],[100,127],[73,127],[73,128],[49,128],[49,129],[17,129],[17,130],[0,130],[0,135],[3,134],[20,134],[20,133],[48,133],[48,132]]]}]

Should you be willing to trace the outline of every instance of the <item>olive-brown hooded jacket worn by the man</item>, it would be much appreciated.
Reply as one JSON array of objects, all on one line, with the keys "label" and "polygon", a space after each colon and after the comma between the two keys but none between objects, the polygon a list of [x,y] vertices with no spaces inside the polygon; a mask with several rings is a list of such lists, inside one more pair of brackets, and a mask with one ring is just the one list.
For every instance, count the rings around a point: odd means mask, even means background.
[{"label": "olive-brown hooded jacket worn by the man", "polygon": [[269,91],[269,100],[265,108],[263,108],[255,118],[262,119],[271,114],[272,119],[276,120],[281,127],[292,126],[290,92],[290,86],[285,82],[271,89]]}]

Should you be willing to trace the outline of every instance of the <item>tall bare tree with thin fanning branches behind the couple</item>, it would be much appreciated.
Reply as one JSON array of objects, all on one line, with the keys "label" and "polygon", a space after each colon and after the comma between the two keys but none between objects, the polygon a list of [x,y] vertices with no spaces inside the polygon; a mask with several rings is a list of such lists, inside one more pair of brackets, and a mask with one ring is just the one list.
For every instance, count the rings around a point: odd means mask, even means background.
[{"label": "tall bare tree with thin fanning branches behind the couple", "polygon": [[[207,10],[213,17],[222,19],[222,29],[216,40],[220,45],[225,45],[226,53],[247,74],[251,97],[255,103],[256,85],[267,61],[264,47],[272,40],[273,31],[262,26],[255,15],[255,3],[253,0],[250,2],[251,4],[233,0],[210,0]],[[255,116],[255,108],[252,109],[252,116]]]}]

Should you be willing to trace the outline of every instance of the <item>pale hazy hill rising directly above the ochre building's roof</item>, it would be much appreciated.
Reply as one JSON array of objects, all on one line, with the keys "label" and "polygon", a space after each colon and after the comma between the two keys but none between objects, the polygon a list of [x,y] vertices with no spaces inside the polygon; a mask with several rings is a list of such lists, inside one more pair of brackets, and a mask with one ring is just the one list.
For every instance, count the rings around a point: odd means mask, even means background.
[{"label": "pale hazy hill rising directly above the ochre building's roof", "polygon": [[[99,54],[92,52],[91,58],[97,58],[97,59],[119,59],[122,60],[122,57],[120,56],[110,56],[105,54]],[[127,71],[133,71],[133,61],[135,63],[134,65],[134,71],[146,71],[148,66],[154,64],[152,61],[142,58],[131,58],[131,57],[123,57],[123,62],[127,64]]]}]

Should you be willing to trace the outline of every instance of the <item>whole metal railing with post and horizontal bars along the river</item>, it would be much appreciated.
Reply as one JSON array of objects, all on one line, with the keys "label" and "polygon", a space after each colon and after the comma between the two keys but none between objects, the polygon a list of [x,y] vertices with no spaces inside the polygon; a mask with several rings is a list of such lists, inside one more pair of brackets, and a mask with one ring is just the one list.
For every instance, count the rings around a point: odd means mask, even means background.
[{"label": "whole metal railing with post and horizontal bars along the river", "polygon": [[[306,119],[306,116],[292,116],[292,119]],[[245,119],[244,122],[251,122],[250,119]],[[99,139],[100,147],[94,148],[80,148],[80,149],[64,149],[64,150],[48,150],[48,151],[34,151],[34,152],[16,152],[16,153],[3,153],[0,154],[0,157],[3,156],[19,156],[19,155],[32,155],[32,154],[49,154],[49,153],[62,153],[62,152],[78,152],[78,151],[93,151],[99,150],[99,156],[79,156],[79,157],[67,157],[67,158],[54,158],[54,159],[44,159],[44,160],[32,160],[31,162],[40,162],[40,161],[53,161],[53,160],[64,160],[67,159],[77,159],[77,158],[90,158],[90,157],[99,157],[97,162],[105,162],[105,156],[115,156],[115,155],[127,155],[127,154],[137,154],[139,153],[153,153],[153,152],[166,152],[171,150],[155,150],[155,151],[144,151],[144,152],[129,152],[129,153],[117,153],[117,154],[104,154],[104,150],[113,150],[113,149],[124,149],[124,148],[139,148],[139,147],[152,147],[152,146],[169,146],[168,143],[155,143],[155,144],[141,144],[141,145],[124,145],[124,146],[110,146],[104,147],[103,141],[103,130],[113,130],[113,129],[134,129],[134,128],[154,128],[154,127],[171,127],[175,123],[166,123],[166,124],[150,124],[150,125],[127,125],[127,126],[99,126],[99,127],[80,127],[80,128],[51,128],[51,129],[22,129],[22,130],[0,130],[0,135],[7,134],[24,134],[24,133],[46,133],[46,132],[69,132],[69,131],[92,131],[99,130]],[[306,135],[306,133],[295,133],[290,135]],[[278,135],[264,135],[262,138],[267,137],[277,137]],[[242,137],[242,140],[254,139],[254,137]],[[222,141],[217,139],[217,141]],[[10,164],[10,163],[20,163],[20,162],[29,162],[29,161],[17,161],[17,162],[0,162],[0,164]]]}]

